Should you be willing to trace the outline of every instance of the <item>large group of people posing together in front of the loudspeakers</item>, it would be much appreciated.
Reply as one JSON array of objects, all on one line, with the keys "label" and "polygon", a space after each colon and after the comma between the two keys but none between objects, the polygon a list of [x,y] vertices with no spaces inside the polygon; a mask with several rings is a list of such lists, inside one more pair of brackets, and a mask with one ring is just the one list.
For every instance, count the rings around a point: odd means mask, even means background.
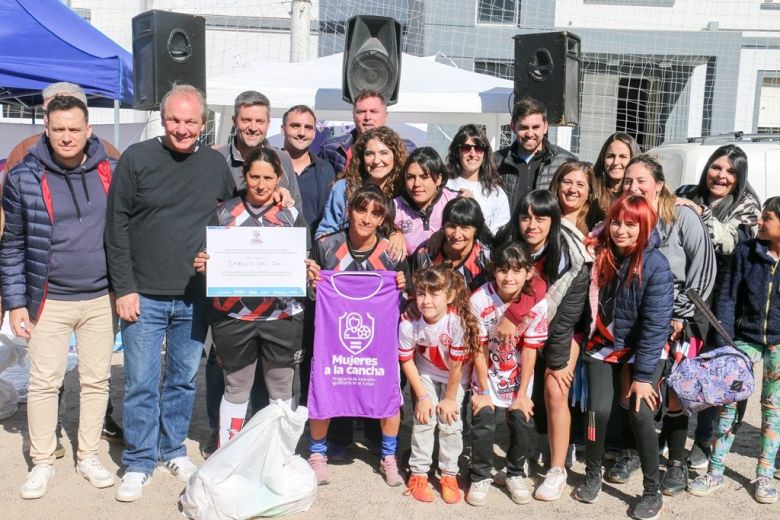
[{"label": "large group of people posing together in front of the loudspeakers", "polygon": [[[402,294],[398,395],[408,385],[414,410],[408,478],[397,453],[400,405],[365,422],[388,485],[435,500],[429,477],[438,430],[447,503],[463,498],[459,459],[467,449],[465,499],[474,506],[486,503],[494,481],[518,504],[559,499],[575,444],[584,445],[585,477],[574,491],[581,502],[596,501],[603,479],[624,483],[641,469],[634,518],[657,518],[662,495],[722,487],[735,408],[701,412],[686,455],[688,416],[659,385],[682,356],[726,341],[693,304],[693,289],[737,348],[763,360],[754,496],[777,500],[780,197],[762,208],[740,148],[717,149],[699,184],[673,194],[661,164],[631,136],[617,132],[595,163],[579,161],[547,140],[545,108],[526,98],[512,112],[511,146],[494,152],[479,126],[465,125],[442,158],[388,128],[386,102],[369,90],[354,101],[354,130],[317,155],[309,107],[285,113],[278,149],[266,141],[269,100],[241,93],[235,134],[214,150],[198,141],[203,95],[176,85],[162,101],[165,134],[117,160],[91,135],[83,94],[44,97],[46,132],[6,175],[0,244],[3,305],[31,358],[33,468],[23,498],[43,496],[54,477],[57,394],[72,333],[81,389],[77,471],[109,487],[114,475],[100,461],[98,440],[121,328],[126,447],[116,498],[134,501],[158,465],[185,482],[197,470],[184,440],[204,344],[208,456],[269,399],[305,401],[317,377],[307,367],[317,356],[314,301],[323,271],[381,271]],[[308,298],[207,300],[207,225],[307,228]],[[509,446],[496,473],[498,409]],[[309,463],[320,484],[352,440],[351,418],[310,420]],[[532,448],[548,468],[533,491]],[[614,462],[602,472],[609,454]],[[691,481],[689,467],[707,471]]]}]

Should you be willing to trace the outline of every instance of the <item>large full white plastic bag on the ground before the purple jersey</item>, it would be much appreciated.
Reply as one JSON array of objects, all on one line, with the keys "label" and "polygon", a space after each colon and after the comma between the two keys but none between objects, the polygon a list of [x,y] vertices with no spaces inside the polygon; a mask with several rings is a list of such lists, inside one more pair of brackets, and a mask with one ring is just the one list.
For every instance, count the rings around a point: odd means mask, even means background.
[{"label": "large full white plastic bag on the ground before the purple jersey", "polygon": [[283,401],[260,410],[187,483],[182,513],[196,520],[280,516],[308,510],[317,477],[295,455],[308,411]]}]

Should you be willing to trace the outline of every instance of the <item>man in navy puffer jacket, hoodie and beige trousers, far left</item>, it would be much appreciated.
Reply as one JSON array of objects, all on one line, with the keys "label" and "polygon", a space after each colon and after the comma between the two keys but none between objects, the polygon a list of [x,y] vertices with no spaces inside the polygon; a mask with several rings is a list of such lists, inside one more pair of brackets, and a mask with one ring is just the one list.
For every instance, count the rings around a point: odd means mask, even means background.
[{"label": "man in navy puffer jacket, hoodie and beige trousers, far left", "polygon": [[114,485],[98,457],[116,323],[103,249],[113,165],[92,137],[88,117],[81,100],[52,99],[45,135],[8,173],[3,188],[3,300],[30,355],[33,469],[21,488],[26,499],[42,497],[54,477],[57,394],[73,333],[80,383],[76,470],[95,487]]}]

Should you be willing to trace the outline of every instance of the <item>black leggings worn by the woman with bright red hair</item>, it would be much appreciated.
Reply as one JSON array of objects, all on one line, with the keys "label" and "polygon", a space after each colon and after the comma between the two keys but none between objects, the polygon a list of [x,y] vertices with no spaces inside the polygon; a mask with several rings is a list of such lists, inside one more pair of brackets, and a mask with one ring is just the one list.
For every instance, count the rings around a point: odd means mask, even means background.
[{"label": "black leggings worn by the woman with bright red hair", "polygon": [[[620,372],[624,365],[605,363],[599,359],[585,356],[588,366],[588,416],[585,436],[585,460],[589,471],[601,471],[601,458],[604,455],[607,422],[612,412],[613,402],[621,392]],[[664,363],[659,361],[653,373],[653,387],[657,388]],[[630,370],[630,365],[629,365]],[[632,396],[628,410],[618,407],[624,431],[634,433],[639,460],[642,463],[643,484],[646,493],[656,493],[659,489],[660,472],[658,470],[658,435],[655,433],[654,416],[642,401],[639,412],[635,412],[636,397]],[[595,431],[594,431],[595,427]]]}]

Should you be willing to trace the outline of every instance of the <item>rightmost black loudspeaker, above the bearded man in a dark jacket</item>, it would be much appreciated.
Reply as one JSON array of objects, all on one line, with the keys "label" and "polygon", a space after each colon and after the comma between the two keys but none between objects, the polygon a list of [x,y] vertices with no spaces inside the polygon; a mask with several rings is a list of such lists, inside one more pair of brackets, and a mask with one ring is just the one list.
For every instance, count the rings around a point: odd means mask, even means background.
[{"label": "rightmost black loudspeaker, above the bearded man in a dark jacket", "polygon": [[544,103],[553,126],[579,124],[580,37],[562,31],[518,34],[514,40],[515,99]]}]

